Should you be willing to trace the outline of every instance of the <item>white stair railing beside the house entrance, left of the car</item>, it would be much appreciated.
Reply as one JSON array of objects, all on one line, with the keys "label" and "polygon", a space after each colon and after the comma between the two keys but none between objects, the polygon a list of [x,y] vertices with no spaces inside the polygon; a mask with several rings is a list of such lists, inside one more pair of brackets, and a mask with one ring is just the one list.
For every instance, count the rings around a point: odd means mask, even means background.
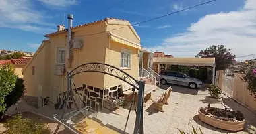
[{"label": "white stair railing beside the house entrance, left of the car", "polygon": [[148,70],[146,70],[145,68],[139,69],[139,79],[147,80],[148,83],[146,84],[156,85],[156,77],[153,74],[150,74],[150,72],[148,72]]}]

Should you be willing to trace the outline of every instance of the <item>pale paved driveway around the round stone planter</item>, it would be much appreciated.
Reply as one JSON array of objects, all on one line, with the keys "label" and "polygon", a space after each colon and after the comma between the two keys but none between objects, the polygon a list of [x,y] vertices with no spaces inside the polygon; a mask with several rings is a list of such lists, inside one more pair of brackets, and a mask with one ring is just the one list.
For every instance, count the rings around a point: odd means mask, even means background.
[{"label": "pale paved driveway around the round stone planter", "polygon": [[[168,88],[168,86],[162,86],[162,88]],[[146,107],[144,107],[145,133],[175,134],[179,133],[177,128],[182,129],[185,132],[190,132],[192,130],[192,126],[197,128],[197,131],[199,131],[200,127],[204,134],[231,133],[211,127],[198,119],[197,114],[199,107],[207,106],[207,103],[203,103],[203,99],[207,95],[208,92],[207,90],[204,90],[204,88],[201,88],[200,90],[191,90],[186,87],[172,86],[170,105],[164,105],[166,112],[162,113],[155,111],[151,107],[152,102],[149,101],[146,103]],[[244,131],[236,133],[255,134],[256,115],[226,96],[224,96],[224,100],[227,107],[234,110],[240,110],[245,115],[247,128]],[[220,104],[214,104],[212,107],[224,108],[224,106]],[[104,109],[101,113],[98,113],[97,118],[102,121],[106,121],[110,125],[119,129],[124,129],[128,109],[129,106],[120,107],[115,111]],[[133,133],[134,124],[135,111],[131,111],[131,116],[126,129],[127,133]]]}]

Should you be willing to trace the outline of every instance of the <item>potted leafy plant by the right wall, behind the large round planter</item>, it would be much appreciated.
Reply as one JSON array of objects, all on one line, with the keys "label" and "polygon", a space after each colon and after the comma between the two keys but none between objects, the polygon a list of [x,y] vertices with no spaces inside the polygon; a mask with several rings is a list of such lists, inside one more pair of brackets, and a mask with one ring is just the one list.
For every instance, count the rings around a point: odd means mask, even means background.
[{"label": "potted leafy plant by the right wall, behind the large round planter", "polygon": [[207,90],[209,91],[210,96],[206,96],[205,101],[210,103],[222,103],[222,98],[220,97],[222,90],[218,88],[218,86],[210,84]]}]

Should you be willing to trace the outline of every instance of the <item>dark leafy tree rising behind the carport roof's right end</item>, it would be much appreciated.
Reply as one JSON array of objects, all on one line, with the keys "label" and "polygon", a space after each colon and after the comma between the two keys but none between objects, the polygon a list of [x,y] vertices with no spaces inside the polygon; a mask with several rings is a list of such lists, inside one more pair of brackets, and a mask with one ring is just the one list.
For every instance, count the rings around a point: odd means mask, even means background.
[{"label": "dark leafy tree rising behind the carport roof's right end", "polygon": [[230,52],[230,49],[224,48],[224,45],[213,45],[205,50],[201,50],[196,57],[215,58],[216,70],[225,70],[232,64],[236,56]]}]

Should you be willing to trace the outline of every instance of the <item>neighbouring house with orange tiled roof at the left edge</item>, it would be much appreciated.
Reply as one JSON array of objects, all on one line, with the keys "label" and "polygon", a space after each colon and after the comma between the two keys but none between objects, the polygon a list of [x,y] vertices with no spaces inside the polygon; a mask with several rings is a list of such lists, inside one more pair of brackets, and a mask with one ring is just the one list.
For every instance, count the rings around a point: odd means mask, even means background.
[{"label": "neighbouring house with orange tiled roof at the left edge", "polygon": [[0,66],[5,66],[6,64],[11,64],[15,68],[15,74],[18,77],[23,78],[22,68],[26,66],[30,57],[21,57],[19,59],[11,59],[11,60],[0,60]]}]

